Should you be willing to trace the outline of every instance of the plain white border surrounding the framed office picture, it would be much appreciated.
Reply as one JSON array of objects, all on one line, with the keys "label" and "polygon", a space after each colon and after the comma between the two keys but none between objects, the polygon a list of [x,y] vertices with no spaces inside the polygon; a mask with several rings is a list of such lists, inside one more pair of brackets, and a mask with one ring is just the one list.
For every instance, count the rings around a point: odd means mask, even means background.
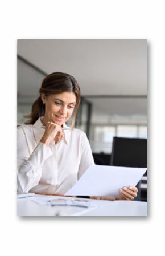
[{"label": "plain white border surrounding the framed office picture", "polygon": [[[165,216],[163,2],[15,0],[1,4],[1,255],[162,255]],[[149,217],[16,217],[18,38],[149,40]]]}]

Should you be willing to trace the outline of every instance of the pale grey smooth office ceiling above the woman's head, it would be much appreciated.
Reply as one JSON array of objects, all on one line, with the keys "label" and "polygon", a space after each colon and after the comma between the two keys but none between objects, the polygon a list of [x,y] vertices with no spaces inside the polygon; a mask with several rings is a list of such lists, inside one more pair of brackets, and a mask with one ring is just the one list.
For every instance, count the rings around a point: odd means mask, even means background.
[{"label": "pale grey smooth office ceiling above the woman's head", "polygon": [[[47,74],[75,76],[82,95],[147,95],[145,39],[19,39],[18,54]],[[18,89],[27,86],[19,76]]]}]

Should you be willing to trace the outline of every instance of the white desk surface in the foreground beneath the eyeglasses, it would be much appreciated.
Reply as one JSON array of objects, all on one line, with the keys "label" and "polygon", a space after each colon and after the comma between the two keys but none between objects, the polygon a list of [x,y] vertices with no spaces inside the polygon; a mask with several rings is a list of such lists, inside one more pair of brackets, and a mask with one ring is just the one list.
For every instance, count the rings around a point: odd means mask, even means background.
[{"label": "white desk surface in the foreground beneath the eyeglasses", "polygon": [[[40,197],[35,195],[34,197]],[[46,198],[68,198],[52,197]],[[19,198],[18,216],[147,216],[147,202],[89,199],[93,208],[39,205],[31,197]]]}]

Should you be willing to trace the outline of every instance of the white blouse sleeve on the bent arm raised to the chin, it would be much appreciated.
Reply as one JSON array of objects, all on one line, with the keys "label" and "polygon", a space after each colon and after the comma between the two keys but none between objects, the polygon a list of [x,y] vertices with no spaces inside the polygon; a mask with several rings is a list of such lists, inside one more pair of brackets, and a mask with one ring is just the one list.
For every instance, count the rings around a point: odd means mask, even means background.
[{"label": "white blouse sleeve on the bent arm raised to the chin", "polygon": [[28,192],[31,188],[39,184],[42,177],[42,166],[44,161],[53,155],[49,147],[43,143],[38,143],[32,153],[30,153],[27,143],[27,135],[23,129],[18,128],[18,192]]}]

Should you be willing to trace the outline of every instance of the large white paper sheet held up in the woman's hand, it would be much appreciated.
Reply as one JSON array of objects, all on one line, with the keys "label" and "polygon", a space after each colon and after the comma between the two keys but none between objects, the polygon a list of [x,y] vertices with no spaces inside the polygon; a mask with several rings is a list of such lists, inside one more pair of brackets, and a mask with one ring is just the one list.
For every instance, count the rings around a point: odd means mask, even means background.
[{"label": "large white paper sheet held up in the woman's hand", "polygon": [[147,168],[91,165],[65,195],[120,197],[119,189],[135,186]]}]

